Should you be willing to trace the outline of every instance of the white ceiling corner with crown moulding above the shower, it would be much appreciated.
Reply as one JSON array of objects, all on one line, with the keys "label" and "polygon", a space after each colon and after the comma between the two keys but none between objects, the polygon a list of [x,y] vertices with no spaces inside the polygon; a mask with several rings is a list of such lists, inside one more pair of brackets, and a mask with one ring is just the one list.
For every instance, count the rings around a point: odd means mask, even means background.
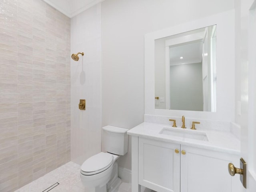
[{"label": "white ceiling corner with crown moulding above the shower", "polygon": [[43,0],[64,15],[72,18],[104,0]]}]

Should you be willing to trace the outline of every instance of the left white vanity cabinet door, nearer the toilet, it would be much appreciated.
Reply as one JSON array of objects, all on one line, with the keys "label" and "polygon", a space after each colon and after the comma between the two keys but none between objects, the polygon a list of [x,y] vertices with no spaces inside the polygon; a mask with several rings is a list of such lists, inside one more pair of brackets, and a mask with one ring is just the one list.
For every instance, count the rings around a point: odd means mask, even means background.
[{"label": "left white vanity cabinet door, nearer the toilet", "polygon": [[138,182],[158,192],[180,192],[180,144],[139,138]]}]

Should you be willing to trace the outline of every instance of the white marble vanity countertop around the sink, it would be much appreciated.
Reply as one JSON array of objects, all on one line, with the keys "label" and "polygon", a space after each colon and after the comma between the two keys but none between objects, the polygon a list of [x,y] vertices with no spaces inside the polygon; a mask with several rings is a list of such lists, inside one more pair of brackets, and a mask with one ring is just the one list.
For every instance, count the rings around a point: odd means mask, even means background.
[{"label": "white marble vanity countertop around the sink", "polygon": [[[178,125],[177,125],[178,126]],[[209,150],[215,150],[219,152],[226,152],[229,154],[240,154],[240,140],[236,138],[229,131],[220,131],[220,130],[210,130],[210,129],[197,129],[190,130],[190,128],[186,128],[186,132],[205,132],[208,138],[208,141],[196,140],[191,138],[182,138],[178,136],[160,134],[159,132],[163,128],[171,128],[172,126],[167,124],[158,124],[151,122],[143,122],[138,126],[128,130],[127,134],[132,136],[138,136],[143,138],[150,138],[154,140],[160,140],[165,142],[172,142],[176,144],[182,144],[187,146],[193,146],[197,148],[204,148]],[[178,126],[177,130],[183,130]]]}]

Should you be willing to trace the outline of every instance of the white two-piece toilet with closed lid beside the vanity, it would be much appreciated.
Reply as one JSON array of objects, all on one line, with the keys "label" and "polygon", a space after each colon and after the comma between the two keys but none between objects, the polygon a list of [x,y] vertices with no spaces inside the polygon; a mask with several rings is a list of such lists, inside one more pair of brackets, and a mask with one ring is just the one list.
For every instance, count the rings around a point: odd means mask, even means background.
[{"label": "white two-piece toilet with closed lid beside the vanity", "polygon": [[102,142],[107,152],[88,158],[81,166],[80,178],[86,188],[93,188],[95,192],[114,192],[121,184],[116,160],[128,151],[128,129],[114,126],[102,129]]}]

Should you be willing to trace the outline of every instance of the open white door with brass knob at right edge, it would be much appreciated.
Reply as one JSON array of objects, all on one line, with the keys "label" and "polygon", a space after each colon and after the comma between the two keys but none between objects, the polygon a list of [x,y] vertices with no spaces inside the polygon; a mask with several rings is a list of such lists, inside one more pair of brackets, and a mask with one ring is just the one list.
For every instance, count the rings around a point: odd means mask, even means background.
[{"label": "open white door with brass knob at right edge", "polygon": [[256,192],[256,0],[241,0],[240,6],[241,157],[247,163],[242,191]]}]

